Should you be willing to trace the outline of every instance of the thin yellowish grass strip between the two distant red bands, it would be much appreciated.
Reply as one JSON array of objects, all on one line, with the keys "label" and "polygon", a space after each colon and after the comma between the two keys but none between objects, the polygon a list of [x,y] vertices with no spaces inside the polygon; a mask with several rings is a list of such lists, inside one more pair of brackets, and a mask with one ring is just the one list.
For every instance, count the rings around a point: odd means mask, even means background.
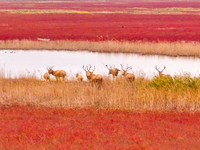
[{"label": "thin yellowish grass strip between the two distant red bands", "polygon": [[[45,2],[40,2],[45,3]],[[59,3],[59,2],[56,2]],[[31,4],[28,4],[31,6]],[[76,8],[76,7],[73,7]],[[91,13],[131,13],[131,14],[200,14],[199,8],[181,8],[181,7],[167,7],[167,8],[125,8],[122,11],[79,11],[79,10],[63,10],[63,9],[1,9],[0,12],[7,12],[13,14],[91,14]]]}]

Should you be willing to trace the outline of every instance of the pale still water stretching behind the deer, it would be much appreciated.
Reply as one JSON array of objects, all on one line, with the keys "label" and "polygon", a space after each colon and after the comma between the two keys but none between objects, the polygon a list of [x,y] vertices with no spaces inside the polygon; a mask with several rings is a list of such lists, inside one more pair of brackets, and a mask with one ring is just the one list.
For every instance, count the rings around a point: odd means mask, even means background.
[{"label": "pale still water stretching behind the deer", "polygon": [[[54,66],[54,70],[63,69],[68,74],[68,79],[75,78],[76,73],[85,77],[83,65],[95,66],[94,73],[108,75],[105,65],[115,65],[121,69],[120,64],[132,66],[129,73],[137,76],[152,78],[158,75],[155,69],[166,66],[163,74],[199,76],[200,58],[193,57],[168,57],[156,55],[139,55],[124,53],[94,53],[87,51],[47,51],[47,50],[0,50],[0,70],[5,77],[19,77],[35,75],[42,78],[47,72],[46,67]],[[121,72],[120,72],[121,73]]]}]

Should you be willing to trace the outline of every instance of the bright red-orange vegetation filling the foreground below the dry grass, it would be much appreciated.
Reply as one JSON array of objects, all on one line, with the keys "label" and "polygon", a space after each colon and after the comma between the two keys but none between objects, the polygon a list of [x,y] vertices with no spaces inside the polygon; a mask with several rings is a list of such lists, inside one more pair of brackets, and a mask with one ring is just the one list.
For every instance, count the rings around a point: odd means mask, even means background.
[{"label": "bright red-orange vegetation filling the foreground below the dry grass", "polygon": [[1,149],[198,149],[200,113],[0,107]]}]

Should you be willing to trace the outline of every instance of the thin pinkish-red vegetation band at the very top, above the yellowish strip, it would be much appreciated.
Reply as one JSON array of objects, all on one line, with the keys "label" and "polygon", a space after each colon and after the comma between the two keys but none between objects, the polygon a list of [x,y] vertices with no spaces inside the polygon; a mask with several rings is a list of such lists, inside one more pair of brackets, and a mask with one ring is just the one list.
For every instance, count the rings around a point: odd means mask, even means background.
[{"label": "thin pinkish-red vegetation band at the very top, above the yellowish strip", "polygon": [[138,8],[166,8],[166,7],[182,7],[182,8],[200,8],[198,1],[85,1],[85,2],[1,2],[0,9],[67,9],[82,11],[125,11]]}]

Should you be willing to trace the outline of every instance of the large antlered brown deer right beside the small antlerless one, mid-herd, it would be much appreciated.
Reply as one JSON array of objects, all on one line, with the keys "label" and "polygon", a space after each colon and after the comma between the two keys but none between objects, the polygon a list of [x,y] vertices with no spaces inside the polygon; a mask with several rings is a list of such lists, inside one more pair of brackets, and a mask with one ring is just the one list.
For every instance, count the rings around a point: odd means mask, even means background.
[{"label": "large antlered brown deer right beside the small antlerless one, mid-herd", "polygon": [[92,68],[91,65],[87,66],[87,67],[84,67],[83,66],[83,70],[85,70],[86,72],[86,77],[88,79],[88,81],[92,82],[92,83],[99,83],[99,84],[102,84],[103,82],[103,77],[102,75],[99,75],[99,74],[94,74],[94,70],[95,70],[95,67],[93,69],[93,71],[90,71]]}]

